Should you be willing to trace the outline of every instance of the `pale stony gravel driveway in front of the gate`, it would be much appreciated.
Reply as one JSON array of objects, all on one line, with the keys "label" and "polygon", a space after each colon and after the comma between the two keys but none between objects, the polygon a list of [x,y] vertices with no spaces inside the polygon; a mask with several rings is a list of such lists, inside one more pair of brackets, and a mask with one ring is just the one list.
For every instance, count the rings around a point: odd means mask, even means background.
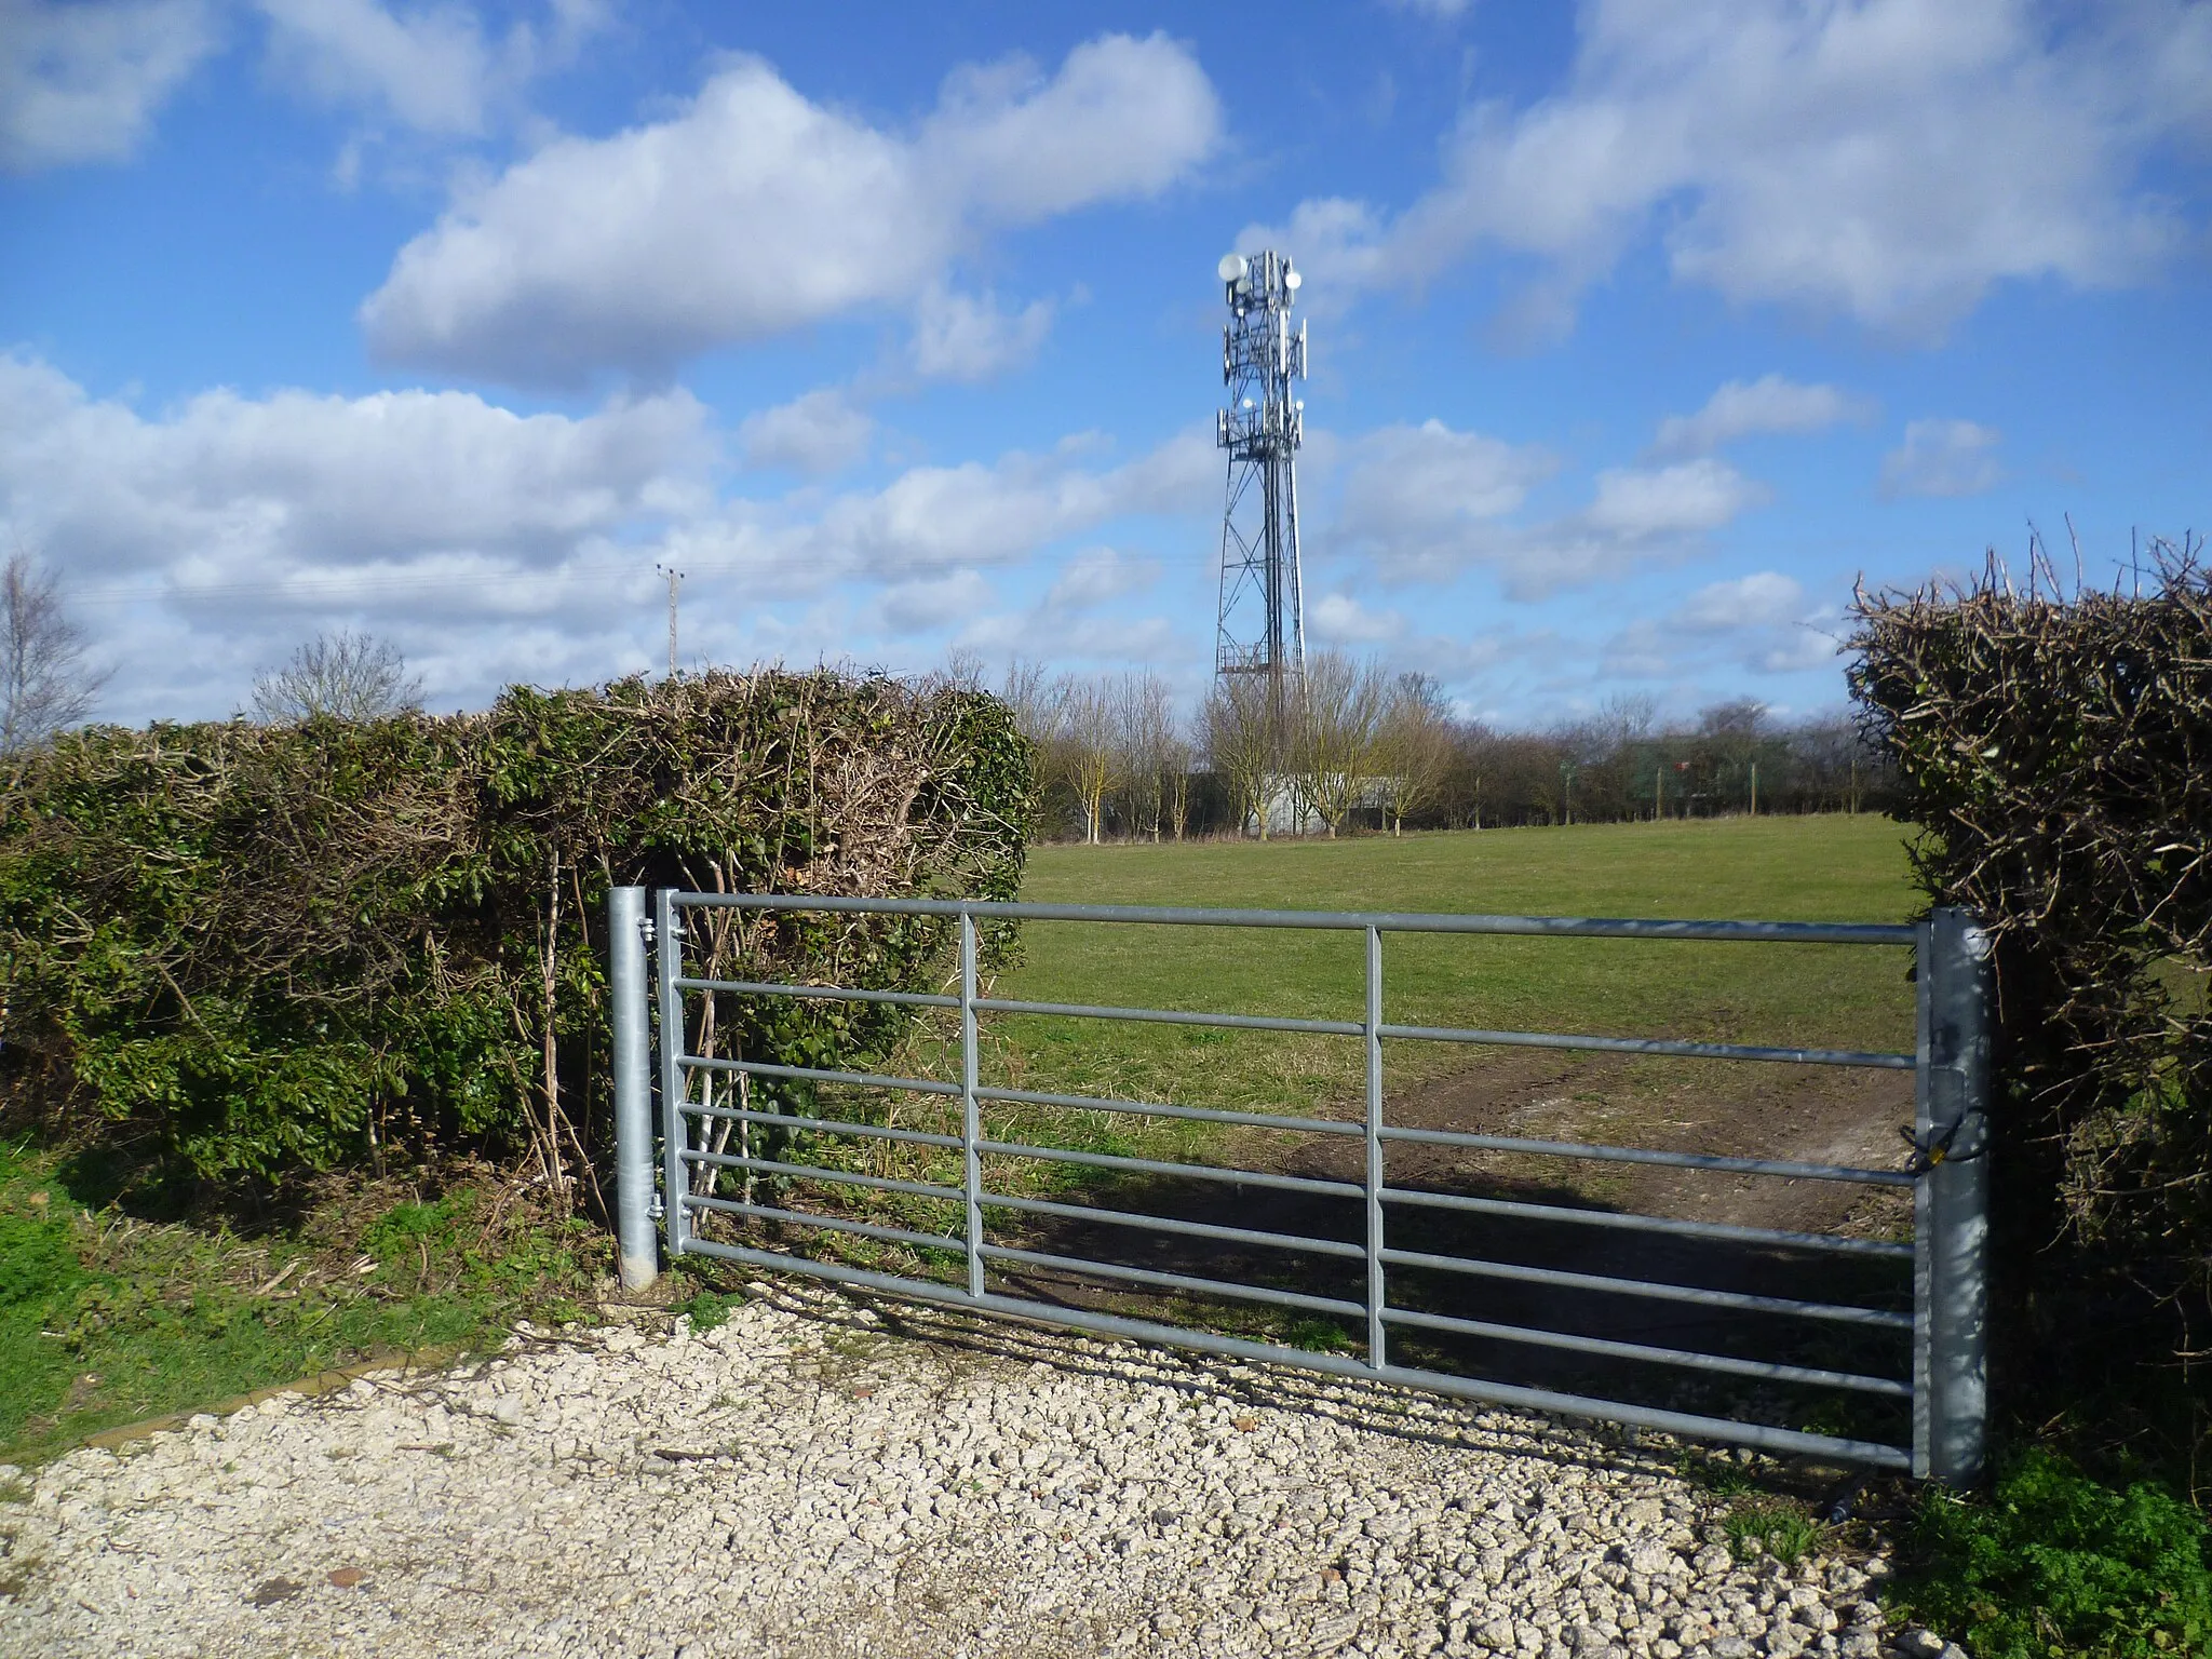
[{"label": "pale stony gravel driveway in front of the gate", "polygon": [[0,1652],[1964,1659],[1632,1436],[759,1290],[0,1469]]}]

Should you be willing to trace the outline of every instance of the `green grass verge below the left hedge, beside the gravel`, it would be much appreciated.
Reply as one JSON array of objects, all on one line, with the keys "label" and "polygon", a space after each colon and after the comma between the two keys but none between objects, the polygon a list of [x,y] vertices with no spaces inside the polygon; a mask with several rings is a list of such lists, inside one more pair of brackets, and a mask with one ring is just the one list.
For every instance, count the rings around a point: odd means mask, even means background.
[{"label": "green grass verge below the left hedge, beside the gravel", "polygon": [[343,1245],[146,1223],[0,1148],[0,1462],[369,1356],[491,1345],[522,1312],[573,1316],[593,1254],[582,1223],[487,1237],[476,1190],[365,1221]]}]

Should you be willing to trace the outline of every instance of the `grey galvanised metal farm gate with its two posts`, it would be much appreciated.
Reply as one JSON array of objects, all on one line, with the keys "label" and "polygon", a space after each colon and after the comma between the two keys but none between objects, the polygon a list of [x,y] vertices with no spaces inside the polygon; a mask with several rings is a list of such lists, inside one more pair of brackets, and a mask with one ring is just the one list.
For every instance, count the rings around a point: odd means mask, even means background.
[{"label": "grey galvanised metal farm gate with its two posts", "polygon": [[[958,929],[958,993],[925,995],[867,987],[708,980],[686,973],[686,920],[717,909],[770,914],[858,911],[865,916],[942,918]],[[1077,1327],[1106,1336],[1179,1345],[1241,1360],[1292,1365],[1345,1378],[1378,1378],[1413,1389],[1462,1396],[1504,1407],[1559,1411],[1579,1418],[1648,1427],[1694,1440],[1721,1440],[1761,1447],[1776,1453],[1812,1453],[1843,1462],[1905,1469],[1920,1478],[1949,1482],[1971,1480],[1982,1464],[1984,1444],[1984,1248],[1986,1248],[1986,1097],[1989,1097],[1989,945],[1964,911],[1938,909],[1911,927],[1834,925],[1834,922],[1668,922],[1668,920],[1588,920],[1546,916],[1425,916],[1425,914],[1325,914],[1325,911],[1250,911],[1250,909],[1128,909],[1097,905],[1006,905],[964,900],[889,900],[889,898],[807,898],[807,896],[737,896],[655,891],[653,916],[646,918],[646,889],[617,887],[611,900],[611,971],[615,1013],[615,1119],[617,1119],[617,1210],[624,1281],[646,1285],[657,1272],[655,1232],[666,1239],[670,1256],[708,1254],[781,1272],[812,1274],[845,1285],[920,1298],[989,1314]],[[1365,936],[1365,1018],[1363,1020],[1287,1020],[1237,1013],[1179,1013],[1130,1006],[1079,1006],[1053,1002],[1015,1002],[982,995],[978,989],[978,927],[993,922],[1113,922],[1146,929],[1239,927],[1239,929],[1332,929]],[[947,927],[947,931],[951,931]],[[1717,1042],[1668,1042],[1639,1037],[1559,1035],[1526,1031],[1464,1031],[1449,1026],[1409,1026],[1383,1020],[1383,942],[1394,933],[1502,933],[1544,938],[1619,938],[1619,940],[1741,940],[1772,945],[1874,945],[1911,947],[1918,991],[1916,1053],[1851,1053],[1814,1048],[1770,1048]],[[653,991],[648,993],[646,960],[655,956]],[[891,1077],[772,1064],[763,1060],[712,1057],[686,1053],[686,1009],[701,995],[741,998],[814,998],[847,1004],[896,1004],[907,1009],[942,1009],[958,1018],[960,1079]],[[650,1006],[657,1004],[657,1011]],[[655,1020],[657,1013],[657,1020]],[[1338,1121],[1323,1117],[1290,1117],[1274,1113],[1237,1113],[1179,1106],[1170,1102],[1128,1102],[1088,1095],[1048,1095],[1020,1088],[987,1086],[980,1079],[980,1015],[1048,1015],[1064,1020],[1139,1020],[1181,1026],[1228,1026],[1245,1031],[1321,1033],[1358,1040],[1365,1046],[1365,1117]],[[657,1077],[655,1077],[655,1024]],[[1714,1062],[1785,1062],[1809,1066],[1871,1066],[1916,1073],[1913,1157],[1905,1170],[1854,1168],[1836,1164],[1798,1164],[1752,1157],[1719,1157],[1703,1152],[1652,1150],[1630,1146],[1595,1146],[1475,1135],[1449,1128],[1394,1126],[1385,1115],[1383,1044],[1447,1042],[1522,1048],[1577,1048],[1626,1055],[1681,1055]],[[770,1082],[770,1093],[732,1088],[743,1077]],[[714,1097],[721,1079],[721,1099]],[[900,1128],[894,1121],[849,1121],[776,1110],[774,1079],[783,1084],[847,1084],[876,1091],[914,1091],[942,1097],[947,1113],[958,1104],[958,1133]],[[657,1135],[655,1135],[657,1095]],[[763,1108],[768,1106],[768,1108]],[[1152,1119],[1197,1119],[1206,1124],[1239,1124],[1270,1130],[1292,1130],[1314,1137],[1349,1137],[1363,1148],[1363,1179],[1321,1181],[1265,1170],[1232,1170],[1192,1164],[1166,1164],[1117,1157],[1068,1146],[995,1141],[984,1133],[987,1106],[1077,1108],[1086,1113],[1121,1113]],[[863,1113],[865,1115],[865,1113]],[[737,1150],[728,1133],[710,1144],[708,1130],[743,1126]],[[785,1161],[768,1152],[803,1148],[796,1135],[849,1137],[856,1141],[891,1141],[931,1148],[947,1164],[960,1155],[964,1179],[898,1181],[818,1164]],[[655,1155],[655,1139],[659,1150]],[[1652,1214],[1619,1214],[1599,1208],[1542,1206],[1517,1199],[1431,1192],[1394,1186],[1385,1175],[1391,1146],[1431,1144],[1613,1164],[1674,1166],[1683,1170],[1717,1170],[1739,1177],[1843,1181],[1880,1188],[1911,1188],[1911,1243],[1889,1239],[1856,1239],[1825,1232],[1783,1232],[1730,1225],[1719,1221],[1674,1219]],[[821,1141],[816,1141],[821,1144]],[[1046,1159],[1091,1166],[1117,1175],[1170,1177],[1177,1181],[1234,1183],[1223,1188],[1223,1206],[1206,1219],[1137,1214],[1091,1203],[1060,1203],[1044,1197],[995,1192],[987,1186],[987,1159]],[[799,1210],[772,1203],[750,1203],[750,1181],[743,1197],[717,1197],[714,1177],[695,1179],[697,1170],[734,1170],[763,1181],[830,1183],[852,1192],[898,1192],[911,1199],[958,1206],[964,1228],[956,1232],[920,1232],[914,1228],[876,1225],[823,1210]],[[659,1177],[655,1183],[655,1175]],[[701,1186],[706,1190],[701,1190]],[[657,1190],[655,1190],[657,1188]],[[1234,1225],[1234,1192],[1243,1188],[1318,1190],[1338,1201],[1356,1201],[1365,1223],[1347,1225],[1352,1239],[1265,1232]],[[1394,1243],[1394,1217],[1411,1212],[1462,1212],[1484,1217],[1520,1217],[1546,1225],[1579,1225],[1657,1234],[1672,1241],[1697,1241],[1694,1248],[1743,1252],[1794,1252],[1803,1259],[1891,1259],[1902,1276],[1911,1263],[1911,1310],[1867,1307],[1856,1303],[1803,1296],[1770,1296],[1741,1290],[1712,1290],[1668,1279],[1635,1279],[1617,1274],[1562,1272],[1557,1267],[1489,1261],[1462,1254],[1405,1250]],[[1133,1263],[1097,1261],[1086,1254],[1057,1254],[993,1243],[989,1214],[1035,1217],[1079,1228],[1128,1228],[1152,1234],[1177,1234],[1192,1248],[1259,1248],[1298,1252],[1303,1259],[1338,1261],[1338,1274],[1354,1274],[1363,1290],[1343,1296],[1307,1294],[1283,1285],[1228,1283],[1190,1272],[1161,1272]],[[752,1243],[703,1237],[706,1217],[732,1217],[734,1223],[774,1223],[781,1230],[801,1228],[814,1237],[832,1234],[876,1245],[898,1245],[927,1252],[925,1259],[964,1261],[964,1283],[942,1283],[909,1274],[889,1274],[847,1261],[810,1259],[772,1243],[754,1225]],[[721,1225],[721,1223],[717,1223]],[[1398,1228],[1405,1223],[1400,1221]],[[945,1252],[945,1254],[936,1254]],[[1135,1318],[1121,1312],[1042,1301],[993,1287],[1006,1274],[1022,1272],[1075,1274],[1084,1281],[1135,1285],[1146,1292],[1199,1294],[1237,1298],[1301,1314],[1327,1314],[1360,1334],[1358,1349],[1310,1352],[1279,1340],[1248,1340],[1164,1318]],[[1416,1274],[1469,1276],[1475,1283],[1520,1285],[1520,1294],[1628,1296],[1688,1305],[1697,1318],[1765,1316],[1809,1321],[1825,1329],[1889,1332],[1902,1349],[1909,1343],[1909,1376],[1878,1376],[1823,1365],[1792,1365],[1743,1354],[1699,1352],[1617,1340],[1597,1332],[1559,1332],[1535,1323],[1462,1318],[1422,1307],[1420,1298],[1394,1301],[1394,1270]],[[958,1272],[953,1267],[953,1272]],[[1453,1281],[1458,1283],[1458,1281]],[[1433,1298],[1431,1298],[1433,1301]],[[1745,1378],[1754,1385],[1803,1385],[1829,1389],[1836,1398],[1889,1398],[1902,1418],[1909,1402],[1909,1444],[1887,1444],[1854,1433],[1825,1433],[1774,1427],[1725,1413],[1681,1411],[1648,1402],[1597,1398],[1584,1391],[1524,1387],[1433,1365],[1394,1363],[1394,1338],[1420,1334],[1422,1340],[1480,1338],[1484,1343],[1520,1343],[1537,1349],[1564,1349],[1601,1360],[1635,1360],[1677,1367],[1690,1374]],[[1579,1363],[1579,1360],[1577,1360]],[[1898,1369],[1907,1369],[1900,1365]],[[1896,1436],[1905,1438],[1905,1436]]]}]

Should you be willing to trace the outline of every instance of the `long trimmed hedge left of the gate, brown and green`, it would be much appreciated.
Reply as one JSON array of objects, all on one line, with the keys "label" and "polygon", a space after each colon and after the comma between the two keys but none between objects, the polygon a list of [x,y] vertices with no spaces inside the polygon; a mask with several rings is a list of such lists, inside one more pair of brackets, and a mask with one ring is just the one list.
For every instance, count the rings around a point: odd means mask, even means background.
[{"label": "long trimmed hedge left of the gate, brown and green", "polygon": [[[18,1115],[201,1177],[469,1146],[535,1148],[562,1188],[604,1097],[608,885],[1011,898],[1033,794],[993,697],[781,670],[91,728],[0,783]],[[947,929],[726,918],[697,949],[920,987]],[[708,1033],[721,1053],[801,1064],[905,1029],[885,1006],[741,1018]]]}]

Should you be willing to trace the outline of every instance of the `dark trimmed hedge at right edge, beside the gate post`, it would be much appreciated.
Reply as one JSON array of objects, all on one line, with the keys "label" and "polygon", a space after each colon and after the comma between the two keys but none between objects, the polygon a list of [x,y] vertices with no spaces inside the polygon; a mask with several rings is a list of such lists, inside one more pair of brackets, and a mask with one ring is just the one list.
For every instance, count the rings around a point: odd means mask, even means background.
[{"label": "dark trimmed hedge at right edge, beside the gate post", "polygon": [[2152,1305],[2188,1356],[2212,1312],[2212,577],[2194,544],[2115,591],[2046,564],[2020,591],[1991,560],[1863,593],[1854,644],[1920,883],[1995,933],[2006,1321],[2139,1356]]}]

